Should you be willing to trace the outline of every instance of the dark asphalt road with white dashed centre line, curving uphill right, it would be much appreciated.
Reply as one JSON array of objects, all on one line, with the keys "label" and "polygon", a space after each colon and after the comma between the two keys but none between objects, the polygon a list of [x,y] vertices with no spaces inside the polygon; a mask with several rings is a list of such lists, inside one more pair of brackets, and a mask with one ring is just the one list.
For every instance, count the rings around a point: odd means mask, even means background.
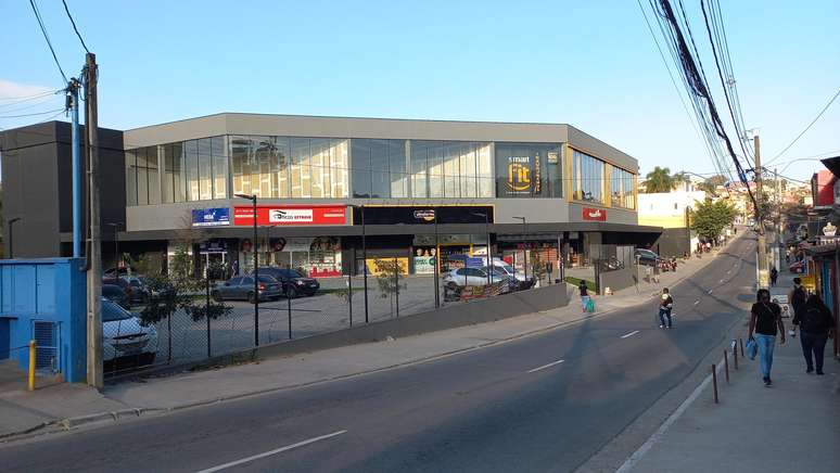
[{"label": "dark asphalt road with white dashed centre line, curving uphill right", "polygon": [[737,241],[674,287],[671,331],[650,303],[433,362],[12,444],[0,470],[572,471],[726,336],[733,303],[752,297],[753,248]]}]

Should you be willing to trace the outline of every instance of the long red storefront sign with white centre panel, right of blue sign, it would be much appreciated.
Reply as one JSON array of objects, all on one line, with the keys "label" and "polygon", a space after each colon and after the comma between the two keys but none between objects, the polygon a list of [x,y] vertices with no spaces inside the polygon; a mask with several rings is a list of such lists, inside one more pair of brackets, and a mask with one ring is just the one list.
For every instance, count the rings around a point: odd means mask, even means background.
[{"label": "long red storefront sign with white centre panel, right of blue sign", "polygon": [[[254,207],[233,207],[233,225],[253,226]],[[344,205],[257,205],[259,226],[347,225]]]}]

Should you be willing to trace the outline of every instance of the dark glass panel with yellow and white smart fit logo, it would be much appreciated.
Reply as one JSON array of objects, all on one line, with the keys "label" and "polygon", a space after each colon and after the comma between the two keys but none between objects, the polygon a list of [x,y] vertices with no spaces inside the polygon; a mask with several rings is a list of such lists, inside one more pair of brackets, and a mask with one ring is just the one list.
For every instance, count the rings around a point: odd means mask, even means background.
[{"label": "dark glass panel with yellow and white smart fit logo", "polygon": [[562,197],[560,144],[496,143],[497,197]]}]

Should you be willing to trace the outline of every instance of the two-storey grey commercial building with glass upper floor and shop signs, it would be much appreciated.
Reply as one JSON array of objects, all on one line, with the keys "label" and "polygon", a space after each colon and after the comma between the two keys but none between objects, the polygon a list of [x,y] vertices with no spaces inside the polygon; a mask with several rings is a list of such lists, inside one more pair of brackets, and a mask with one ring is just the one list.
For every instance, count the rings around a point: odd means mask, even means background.
[{"label": "two-storey grey commercial building with glass upper floor and shop signs", "polygon": [[[69,254],[69,125],[0,137],[15,256]],[[364,240],[369,266],[397,258],[428,273],[435,256],[445,270],[489,241],[494,256],[558,271],[661,231],[638,226],[637,161],[569,125],[222,113],[100,129],[100,146],[105,267],[118,240],[162,268],[183,248],[201,255],[196,269],[247,270],[256,251],[335,277],[361,270]],[[256,216],[237,194],[256,195]]]}]

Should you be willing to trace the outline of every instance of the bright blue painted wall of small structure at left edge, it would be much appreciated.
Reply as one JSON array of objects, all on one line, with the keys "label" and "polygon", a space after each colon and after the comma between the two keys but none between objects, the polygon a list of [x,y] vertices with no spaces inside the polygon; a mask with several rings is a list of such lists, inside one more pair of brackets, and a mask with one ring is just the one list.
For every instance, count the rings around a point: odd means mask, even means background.
[{"label": "bright blue painted wall of small structure at left edge", "polygon": [[[72,383],[86,379],[86,273],[80,258],[0,260],[0,358],[29,366],[26,346],[36,337],[37,322],[54,323],[56,371]],[[44,325],[39,325],[44,327]],[[39,351],[39,359],[49,353]],[[53,358],[52,355],[49,358]]]}]

